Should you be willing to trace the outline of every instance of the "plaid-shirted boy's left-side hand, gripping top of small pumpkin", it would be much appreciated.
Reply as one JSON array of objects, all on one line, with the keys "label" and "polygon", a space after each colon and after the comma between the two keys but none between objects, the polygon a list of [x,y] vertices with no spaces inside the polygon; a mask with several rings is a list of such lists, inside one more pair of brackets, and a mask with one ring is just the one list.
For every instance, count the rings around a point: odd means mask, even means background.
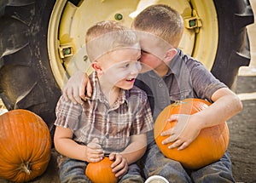
[{"label": "plaid-shirted boy's left-side hand, gripping top of small pumpkin", "polygon": [[95,138],[87,145],[87,151],[85,154],[88,160],[87,162],[96,163],[101,161],[104,157],[102,146],[99,145],[98,143],[99,140]]}]

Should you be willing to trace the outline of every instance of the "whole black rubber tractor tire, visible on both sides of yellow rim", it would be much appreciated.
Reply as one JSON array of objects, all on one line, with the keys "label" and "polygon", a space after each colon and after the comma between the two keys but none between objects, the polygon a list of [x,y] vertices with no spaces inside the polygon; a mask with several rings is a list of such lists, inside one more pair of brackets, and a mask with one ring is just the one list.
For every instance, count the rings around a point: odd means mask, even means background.
[{"label": "whole black rubber tractor tire, visible on both sides of yellow rim", "polygon": [[[0,3],[0,94],[8,110],[37,113],[53,133],[61,89],[49,66],[47,30],[55,0],[10,2]],[[212,73],[231,87],[239,67],[250,61],[246,26],[253,23],[253,12],[247,0],[214,3],[219,40]]]}]

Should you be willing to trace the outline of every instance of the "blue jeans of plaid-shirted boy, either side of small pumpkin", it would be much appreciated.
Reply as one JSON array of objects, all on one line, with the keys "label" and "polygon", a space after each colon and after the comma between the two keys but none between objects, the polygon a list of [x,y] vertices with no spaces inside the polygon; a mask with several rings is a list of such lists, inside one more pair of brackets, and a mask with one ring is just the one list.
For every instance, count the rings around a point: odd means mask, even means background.
[{"label": "blue jeans of plaid-shirted boy, either side of small pumpkin", "polygon": [[[83,161],[67,158],[67,160],[61,163],[59,169],[59,176],[61,183],[82,183],[90,182],[85,175],[85,169],[88,163]],[[119,182],[144,182],[140,169],[137,164],[133,163],[129,165],[128,172],[119,180]]]}]

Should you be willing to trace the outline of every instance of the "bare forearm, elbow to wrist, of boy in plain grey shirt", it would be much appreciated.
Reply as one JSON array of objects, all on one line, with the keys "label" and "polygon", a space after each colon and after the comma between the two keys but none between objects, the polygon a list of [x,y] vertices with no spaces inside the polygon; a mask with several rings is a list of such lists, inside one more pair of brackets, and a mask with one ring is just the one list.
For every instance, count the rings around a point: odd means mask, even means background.
[{"label": "bare forearm, elbow to wrist, of boy in plain grey shirt", "polygon": [[212,105],[207,109],[195,113],[197,118],[201,117],[201,129],[223,123],[234,117],[242,109],[241,100],[228,88],[216,90],[212,94]]}]

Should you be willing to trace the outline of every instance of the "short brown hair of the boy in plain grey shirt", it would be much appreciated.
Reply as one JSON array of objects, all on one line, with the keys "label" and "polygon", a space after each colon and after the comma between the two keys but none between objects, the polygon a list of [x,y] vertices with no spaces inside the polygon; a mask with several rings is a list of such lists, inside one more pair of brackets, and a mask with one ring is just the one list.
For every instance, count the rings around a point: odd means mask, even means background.
[{"label": "short brown hair of the boy in plain grey shirt", "polygon": [[132,27],[137,31],[151,32],[177,48],[183,35],[183,18],[166,4],[156,4],[138,14]]}]

